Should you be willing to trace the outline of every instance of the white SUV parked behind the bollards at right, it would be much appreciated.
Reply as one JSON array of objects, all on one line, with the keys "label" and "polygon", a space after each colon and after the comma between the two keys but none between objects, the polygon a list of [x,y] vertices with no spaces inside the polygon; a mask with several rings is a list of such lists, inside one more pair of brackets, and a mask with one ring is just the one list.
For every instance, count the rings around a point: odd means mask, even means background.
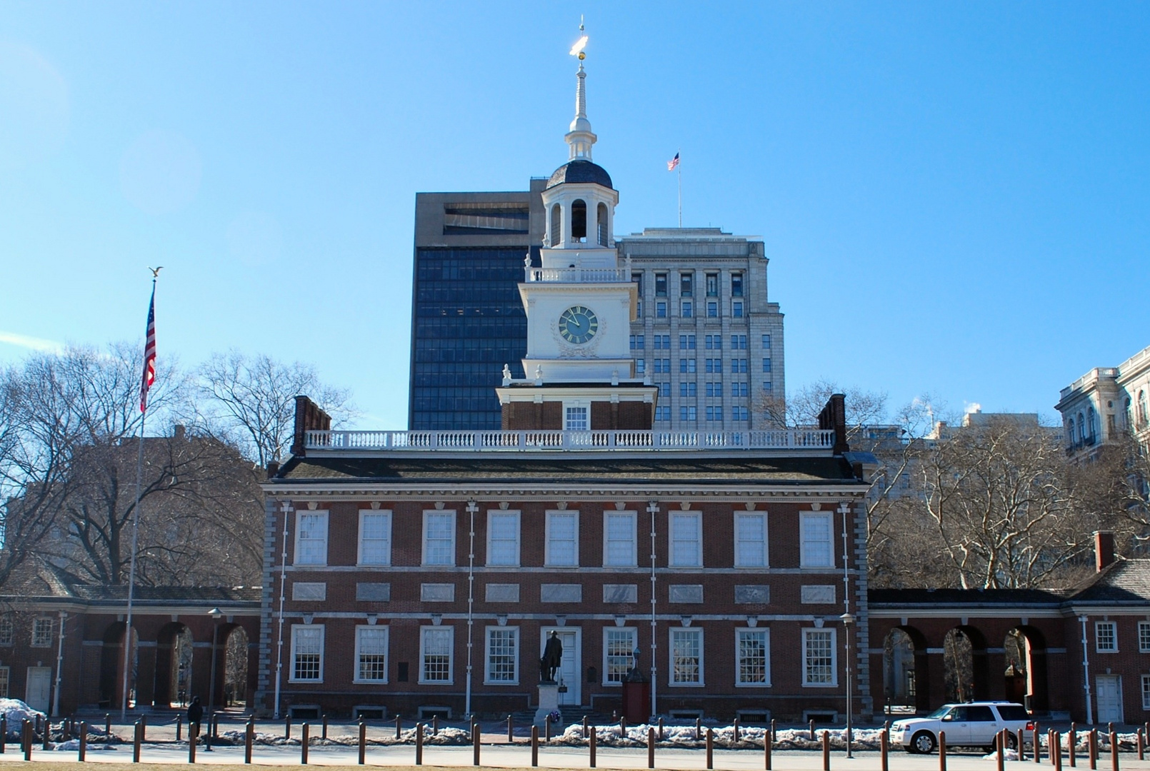
[{"label": "white SUV parked behind the bollards at right", "polygon": [[933,753],[938,747],[938,733],[946,733],[948,747],[992,747],[995,734],[1010,730],[1007,747],[1018,745],[1018,731],[1034,731],[1026,708],[1006,701],[974,701],[966,704],[943,704],[926,717],[896,720],[890,726],[890,741],[908,753]]}]

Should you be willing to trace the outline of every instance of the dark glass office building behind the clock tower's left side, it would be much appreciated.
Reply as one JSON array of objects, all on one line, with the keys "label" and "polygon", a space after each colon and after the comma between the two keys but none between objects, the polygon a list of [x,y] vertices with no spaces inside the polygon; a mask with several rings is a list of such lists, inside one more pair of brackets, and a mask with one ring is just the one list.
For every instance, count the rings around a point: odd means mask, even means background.
[{"label": "dark glass office building behind the clock tower's left side", "polygon": [[[538,264],[545,179],[526,192],[419,193],[407,424],[498,430],[504,364],[523,377],[523,256]],[[531,245],[535,245],[534,247]]]}]

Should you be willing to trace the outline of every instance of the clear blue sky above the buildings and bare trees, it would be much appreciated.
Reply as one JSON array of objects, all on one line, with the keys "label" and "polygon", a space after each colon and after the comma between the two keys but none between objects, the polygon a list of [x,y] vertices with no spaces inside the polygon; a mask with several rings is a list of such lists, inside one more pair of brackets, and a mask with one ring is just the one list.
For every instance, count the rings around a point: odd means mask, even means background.
[{"label": "clear blue sky above the buildings and bare trees", "polygon": [[405,427],[415,193],[562,163],[580,14],[616,232],[760,236],[787,379],[1052,414],[1150,345],[1150,5],[15,2],[0,362],[314,363]]}]

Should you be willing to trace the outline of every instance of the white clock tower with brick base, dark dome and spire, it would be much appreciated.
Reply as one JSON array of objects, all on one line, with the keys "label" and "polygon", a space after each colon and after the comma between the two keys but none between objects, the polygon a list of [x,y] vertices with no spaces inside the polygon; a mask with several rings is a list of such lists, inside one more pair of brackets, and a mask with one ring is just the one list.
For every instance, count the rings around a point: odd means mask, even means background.
[{"label": "white clock tower with brick base, dark dome and spire", "polygon": [[532,267],[528,255],[519,285],[527,377],[514,380],[505,368],[496,390],[503,427],[650,430],[657,388],[635,378],[629,340],[637,287],[615,249],[619,193],[591,160],[597,137],[586,117],[584,54],[577,53],[575,119],[565,137],[569,157],[543,191],[540,265]]}]

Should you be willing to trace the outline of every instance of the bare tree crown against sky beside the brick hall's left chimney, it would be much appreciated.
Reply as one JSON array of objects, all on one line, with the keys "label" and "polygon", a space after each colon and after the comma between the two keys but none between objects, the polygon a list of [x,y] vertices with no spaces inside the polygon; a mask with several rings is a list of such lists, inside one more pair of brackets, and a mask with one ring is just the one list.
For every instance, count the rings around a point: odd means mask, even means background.
[{"label": "bare tree crown against sky beside the brick hall's left chimney", "polygon": [[215,354],[199,371],[204,423],[267,467],[286,455],[294,430],[296,396],[312,398],[335,421],[355,415],[350,392],[322,383],[309,364],[266,355]]}]

